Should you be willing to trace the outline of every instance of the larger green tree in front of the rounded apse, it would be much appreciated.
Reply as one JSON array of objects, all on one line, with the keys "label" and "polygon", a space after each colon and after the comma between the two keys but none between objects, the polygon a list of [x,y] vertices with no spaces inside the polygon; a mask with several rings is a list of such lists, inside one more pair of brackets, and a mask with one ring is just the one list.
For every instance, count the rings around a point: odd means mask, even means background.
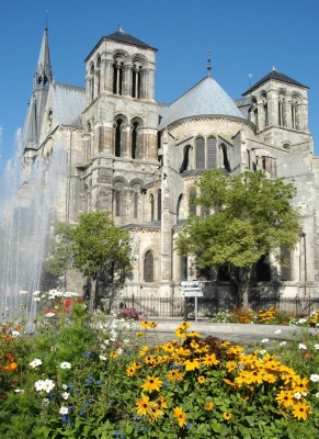
[{"label": "larger green tree in front of the rounded apse", "polygon": [[175,240],[180,255],[194,255],[198,268],[240,268],[243,305],[254,263],[266,254],[281,258],[300,234],[299,213],[292,205],[296,188],[283,179],[269,180],[263,172],[225,176],[207,170],[197,182],[193,201],[210,214],[191,215]]}]

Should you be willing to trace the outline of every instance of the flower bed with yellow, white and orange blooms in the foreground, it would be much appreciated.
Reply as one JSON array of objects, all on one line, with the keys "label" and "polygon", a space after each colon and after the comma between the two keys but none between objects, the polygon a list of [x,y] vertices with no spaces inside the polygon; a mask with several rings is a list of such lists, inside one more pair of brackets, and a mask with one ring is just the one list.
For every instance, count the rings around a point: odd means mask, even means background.
[{"label": "flower bed with yellow, white and orange blooms in the foreground", "polygon": [[3,325],[0,437],[316,437],[318,336],[264,339],[251,351],[182,323],[150,347],[157,323],[116,317],[75,302],[71,313],[39,317],[32,337],[23,322]]}]

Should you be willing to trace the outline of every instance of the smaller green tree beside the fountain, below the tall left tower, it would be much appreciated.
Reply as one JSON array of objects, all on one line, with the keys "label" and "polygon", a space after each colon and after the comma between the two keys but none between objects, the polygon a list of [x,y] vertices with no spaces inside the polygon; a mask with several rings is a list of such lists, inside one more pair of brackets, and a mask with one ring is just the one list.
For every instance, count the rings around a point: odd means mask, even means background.
[{"label": "smaller green tree beside the fountain, below the tall left tower", "polygon": [[68,269],[88,278],[89,311],[93,311],[99,279],[114,273],[121,286],[132,272],[129,232],[115,226],[107,212],[82,214],[75,226],[59,223],[46,271],[61,275]]}]

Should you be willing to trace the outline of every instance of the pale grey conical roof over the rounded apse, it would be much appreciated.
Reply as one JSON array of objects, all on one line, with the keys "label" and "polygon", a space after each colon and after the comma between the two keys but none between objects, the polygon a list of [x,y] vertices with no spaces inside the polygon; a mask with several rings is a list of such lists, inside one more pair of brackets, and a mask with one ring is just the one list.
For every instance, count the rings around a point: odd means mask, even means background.
[{"label": "pale grey conical roof over the rounded apse", "polygon": [[160,128],[183,119],[212,115],[244,119],[233,100],[207,76],[168,106]]}]

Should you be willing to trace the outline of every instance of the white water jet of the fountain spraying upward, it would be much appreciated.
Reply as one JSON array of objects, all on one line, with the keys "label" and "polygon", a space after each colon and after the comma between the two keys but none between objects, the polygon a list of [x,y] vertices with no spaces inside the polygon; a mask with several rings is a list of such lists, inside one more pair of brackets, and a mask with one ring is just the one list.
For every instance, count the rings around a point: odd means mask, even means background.
[{"label": "white water jet of the fountain spraying upward", "polygon": [[23,312],[30,320],[37,307],[33,293],[41,289],[62,154],[56,147],[49,159],[37,156],[22,179],[21,131],[15,137],[16,153],[5,166],[1,185],[0,313],[12,318]]}]

